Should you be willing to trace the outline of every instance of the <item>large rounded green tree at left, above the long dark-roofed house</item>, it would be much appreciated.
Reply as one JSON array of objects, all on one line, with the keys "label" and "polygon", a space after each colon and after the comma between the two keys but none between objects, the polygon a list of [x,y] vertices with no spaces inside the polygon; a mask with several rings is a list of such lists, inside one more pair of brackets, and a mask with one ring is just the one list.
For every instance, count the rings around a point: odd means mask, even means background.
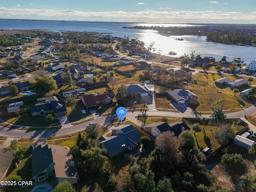
[{"label": "large rounded green tree at left, above the long dark-roofed house", "polygon": [[56,84],[56,80],[54,80],[50,76],[36,77],[35,86],[42,90],[42,92],[47,93],[50,90],[57,90],[58,86]]}]

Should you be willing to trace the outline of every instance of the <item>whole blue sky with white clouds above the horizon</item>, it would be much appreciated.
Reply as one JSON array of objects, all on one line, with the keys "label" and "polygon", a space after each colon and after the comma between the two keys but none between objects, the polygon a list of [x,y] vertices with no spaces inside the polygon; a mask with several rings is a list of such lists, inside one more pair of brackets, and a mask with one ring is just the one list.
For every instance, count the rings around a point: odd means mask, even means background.
[{"label": "whole blue sky with white clouds above the horizon", "polygon": [[0,18],[256,24],[256,0],[1,0]]}]

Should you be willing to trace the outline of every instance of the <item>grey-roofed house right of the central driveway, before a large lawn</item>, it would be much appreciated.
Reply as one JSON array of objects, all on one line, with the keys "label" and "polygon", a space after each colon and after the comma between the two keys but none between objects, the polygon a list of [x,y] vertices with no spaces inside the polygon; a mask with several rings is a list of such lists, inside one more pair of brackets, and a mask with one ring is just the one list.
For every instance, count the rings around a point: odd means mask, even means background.
[{"label": "grey-roofed house right of the central driveway, before a large lawn", "polygon": [[185,103],[186,101],[189,101],[192,104],[198,104],[198,96],[190,90],[175,89],[173,91],[167,91],[167,94],[178,104]]}]

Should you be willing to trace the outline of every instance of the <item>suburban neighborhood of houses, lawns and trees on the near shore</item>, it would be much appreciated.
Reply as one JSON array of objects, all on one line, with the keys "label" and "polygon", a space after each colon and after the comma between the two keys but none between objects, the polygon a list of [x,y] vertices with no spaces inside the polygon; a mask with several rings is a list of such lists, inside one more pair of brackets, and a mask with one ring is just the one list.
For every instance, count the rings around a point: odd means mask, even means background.
[{"label": "suburban neighborhood of houses, lawns and trees on the near shore", "polygon": [[0,176],[33,185],[3,191],[256,189],[255,60],[163,56],[96,32],[7,37],[24,44],[0,46]]}]

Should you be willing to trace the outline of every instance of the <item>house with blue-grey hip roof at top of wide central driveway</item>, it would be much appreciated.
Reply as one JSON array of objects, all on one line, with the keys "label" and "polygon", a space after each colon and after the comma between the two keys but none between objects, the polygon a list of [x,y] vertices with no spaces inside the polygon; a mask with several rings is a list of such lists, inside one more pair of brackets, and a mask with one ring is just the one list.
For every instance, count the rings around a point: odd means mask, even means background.
[{"label": "house with blue-grey hip roof at top of wide central driveway", "polygon": [[149,84],[126,85],[126,97],[146,97],[150,92],[154,92],[154,86]]}]

